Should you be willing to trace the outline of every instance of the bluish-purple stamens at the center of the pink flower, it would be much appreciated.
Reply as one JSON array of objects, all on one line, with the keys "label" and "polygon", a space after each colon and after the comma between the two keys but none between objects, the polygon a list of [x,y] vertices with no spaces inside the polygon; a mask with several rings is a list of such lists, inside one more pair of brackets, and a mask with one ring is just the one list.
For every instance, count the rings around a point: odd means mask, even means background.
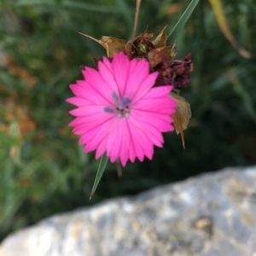
[{"label": "bluish-purple stamens at the center of the pink flower", "polygon": [[112,93],[112,97],[114,102],[116,102],[116,105],[113,106],[113,108],[109,108],[109,107],[103,108],[103,111],[106,113],[117,113],[118,117],[121,117],[121,118],[129,117],[131,112],[131,108],[130,108],[131,100],[127,96],[124,96],[123,99],[120,100],[119,96],[114,91]]}]

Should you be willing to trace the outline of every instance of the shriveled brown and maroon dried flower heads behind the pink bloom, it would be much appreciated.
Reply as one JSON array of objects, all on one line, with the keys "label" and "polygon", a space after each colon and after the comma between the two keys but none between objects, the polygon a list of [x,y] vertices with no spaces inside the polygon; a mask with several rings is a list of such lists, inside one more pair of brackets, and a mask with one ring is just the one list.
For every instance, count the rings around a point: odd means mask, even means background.
[{"label": "shriveled brown and maroon dried flower heads behind the pink bloom", "polygon": [[167,26],[156,38],[154,38],[153,33],[148,33],[148,29],[146,29],[145,32],[128,42],[124,39],[105,36],[98,40],[84,33],[81,34],[101,44],[107,50],[109,58],[112,58],[115,53],[123,51],[130,59],[147,60],[150,72],[158,72],[155,86],[164,84],[172,84],[174,87],[188,86],[190,83],[189,75],[193,70],[192,55],[186,55],[182,60],[175,60],[176,45],[174,43],[166,45]]}]

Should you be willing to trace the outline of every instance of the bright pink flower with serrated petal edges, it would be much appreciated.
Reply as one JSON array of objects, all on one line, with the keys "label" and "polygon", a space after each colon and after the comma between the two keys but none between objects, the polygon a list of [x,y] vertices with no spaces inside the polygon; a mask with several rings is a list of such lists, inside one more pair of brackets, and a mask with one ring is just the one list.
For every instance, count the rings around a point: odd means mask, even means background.
[{"label": "bright pink flower with serrated petal edges", "polygon": [[113,61],[103,57],[98,70],[85,67],[84,80],[70,84],[75,95],[67,99],[78,108],[70,113],[73,133],[80,135],[84,152],[96,150],[96,159],[107,152],[110,161],[144,156],[152,159],[154,145],[162,147],[162,132],[173,131],[171,114],[176,102],[171,85],[154,87],[158,73],[149,73],[148,61],[130,60],[124,53]]}]

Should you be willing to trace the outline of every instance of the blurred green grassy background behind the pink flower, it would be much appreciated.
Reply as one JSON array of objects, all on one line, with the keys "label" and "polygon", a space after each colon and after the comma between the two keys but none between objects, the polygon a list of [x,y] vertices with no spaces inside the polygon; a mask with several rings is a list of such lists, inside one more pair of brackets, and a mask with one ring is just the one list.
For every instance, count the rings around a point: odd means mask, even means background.
[{"label": "blurred green grassy background behind the pink flower", "polygon": [[[242,2],[242,3],[241,3]],[[256,2],[223,0],[238,44],[256,55]],[[167,32],[189,1],[143,1],[138,33]],[[68,123],[68,84],[81,65],[105,55],[94,38],[130,39],[135,1],[0,0],[0,239],[57,212],[119,195],[134,195],[225,166],[256,163],[256,61],[224,38],[210,4],[201,0],[177,38],[177,59],[192,52],[186,150],[174,132],[154,160],[129,164],[119,178],[108,164],[89,201],[98,162],[84,154]],[[171,42],[169,42],[171,43]]]}]

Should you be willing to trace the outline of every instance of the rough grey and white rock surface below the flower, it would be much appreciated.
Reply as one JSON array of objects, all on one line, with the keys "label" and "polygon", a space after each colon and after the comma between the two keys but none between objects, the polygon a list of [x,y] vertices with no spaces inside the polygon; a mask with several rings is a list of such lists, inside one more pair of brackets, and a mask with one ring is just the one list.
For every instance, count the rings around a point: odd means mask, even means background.
[{"label": "rough grey and white rock surface below the flower", "polygon": [[255,256],[256,166],[47,218],[9,236],[1,256]]}]

